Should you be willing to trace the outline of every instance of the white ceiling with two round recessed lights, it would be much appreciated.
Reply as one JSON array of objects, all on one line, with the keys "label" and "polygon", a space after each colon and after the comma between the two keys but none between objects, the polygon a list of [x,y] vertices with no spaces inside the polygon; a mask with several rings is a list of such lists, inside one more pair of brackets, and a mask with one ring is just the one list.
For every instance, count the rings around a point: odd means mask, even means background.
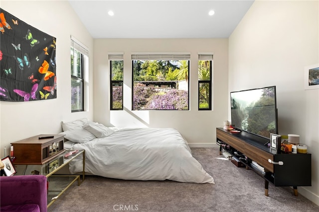
[{"label": "white ceiling with two round recessed lights", "polygon": [[69,2],[93,38],[228,38],[254,0]]}]

